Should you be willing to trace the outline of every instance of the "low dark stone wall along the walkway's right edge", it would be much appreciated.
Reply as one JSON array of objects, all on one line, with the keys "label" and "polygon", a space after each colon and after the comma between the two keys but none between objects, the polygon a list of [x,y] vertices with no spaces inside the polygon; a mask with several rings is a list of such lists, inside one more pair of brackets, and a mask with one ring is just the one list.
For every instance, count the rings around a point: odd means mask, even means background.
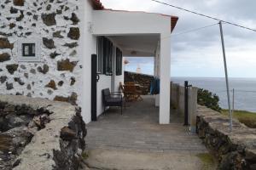
[{"label": "low dark stone wall along the walkway's right edge", "polygon": [[221,170],[256,169],[256,130],[233,121],[204,106],[198,106],[197,133],[209,150],[218,157]]}]

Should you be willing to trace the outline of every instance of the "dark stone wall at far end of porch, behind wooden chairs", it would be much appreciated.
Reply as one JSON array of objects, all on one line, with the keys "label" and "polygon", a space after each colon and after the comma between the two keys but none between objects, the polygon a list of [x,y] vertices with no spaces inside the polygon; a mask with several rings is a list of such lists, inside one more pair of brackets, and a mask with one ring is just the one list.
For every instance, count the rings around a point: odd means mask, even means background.
[{"label": "dark stone wall at far end of porch, behind wooden chairs", "polygon": [[125,71],[125,82],[136,82],[143,86],[143,94],[150,93],[150,83],[154,80],[154,76],[139,74],[136,72]]}]

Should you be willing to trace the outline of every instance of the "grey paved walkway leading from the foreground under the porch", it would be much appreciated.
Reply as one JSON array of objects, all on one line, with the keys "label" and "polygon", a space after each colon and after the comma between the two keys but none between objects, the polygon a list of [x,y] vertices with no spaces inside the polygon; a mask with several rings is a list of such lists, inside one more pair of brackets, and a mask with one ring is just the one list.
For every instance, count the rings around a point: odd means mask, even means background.
[{"label": "grey paved walkway leading from the foreground under the porch", "polygon": [[201,169],[197,154],[207,153],[201,139],[183,127],[172,111],[171,124],[158,123],[158,108],[151,96],[129,103],[120,115],[110,109],[98,122],[87,125],[89,167],[100,169]]}]

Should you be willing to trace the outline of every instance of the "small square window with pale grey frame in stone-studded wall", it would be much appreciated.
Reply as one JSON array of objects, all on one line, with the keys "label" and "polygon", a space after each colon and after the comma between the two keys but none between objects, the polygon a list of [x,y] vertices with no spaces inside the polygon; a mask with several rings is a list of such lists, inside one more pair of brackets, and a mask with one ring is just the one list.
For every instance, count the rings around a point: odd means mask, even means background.
[{"label": "small square window with pale grey frame in stone-studded wall", "polygon": [[20,38],[18,41],[18,60],[26,62],[40,61],[40,45],[37,39]]}]

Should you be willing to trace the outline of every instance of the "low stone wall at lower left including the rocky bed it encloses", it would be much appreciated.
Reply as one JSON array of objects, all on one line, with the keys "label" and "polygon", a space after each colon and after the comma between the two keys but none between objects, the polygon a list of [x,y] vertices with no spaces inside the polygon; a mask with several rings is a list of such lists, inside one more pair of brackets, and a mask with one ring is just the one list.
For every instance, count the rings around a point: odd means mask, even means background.
[{"label": "low stone wall at lower left including the rocky bed it encloses", "polygon": [[[6,116],[15,115],[16,118],[10,117],[20,123],[18,127],[23,132],[20,136],[16,136],[8,129],[2,129],[2,133],[9,135],[10,146],[19,144],[24,146],[19,148],[19,153],[9,151],[10,156],[15,156],[15,161],[10,162],[10,167],[3,167],[3,159],[1,159],[1,169],[79,169],[79,157],[85,149],[86,135],[85,123],[80,112],[79,107],[64,102],[0,95],[0,116],[2,117],[0,121],[8,118]],[[32,124],[35,125],[32,126]],[[40,125],[44,126],[40,127]],[[24,144],[24,140],[22,142],[20,138],[26,138],[27,144]]]}]

